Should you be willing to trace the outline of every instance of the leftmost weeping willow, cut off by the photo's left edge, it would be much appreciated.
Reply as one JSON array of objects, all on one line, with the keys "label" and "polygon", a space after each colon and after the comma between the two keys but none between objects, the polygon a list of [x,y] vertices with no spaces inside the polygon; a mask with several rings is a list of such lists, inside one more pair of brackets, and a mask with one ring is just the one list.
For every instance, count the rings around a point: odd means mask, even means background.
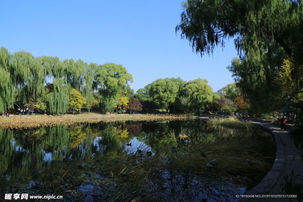
[{"label": "leftmost weeping willow, cut off by the photo's left edge", "polygon": [[10,74],[10,61],[12,55],[6,48],[0,47],[0,114],[7,106],[13,105],[14,84]]}]

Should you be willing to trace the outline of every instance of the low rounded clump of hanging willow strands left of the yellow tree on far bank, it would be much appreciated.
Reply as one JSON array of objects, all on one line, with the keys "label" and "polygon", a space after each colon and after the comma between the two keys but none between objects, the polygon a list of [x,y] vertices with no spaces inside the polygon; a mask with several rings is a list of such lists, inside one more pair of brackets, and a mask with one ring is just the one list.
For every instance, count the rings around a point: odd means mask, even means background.
[{"label": "low rounded clump of hanging willow strands left of the yellow tree on far bank", "polygon": [[64,114],[67,110],[68,96],[57,91],[49,93],[48,96],[48,110],[52,114]]}]

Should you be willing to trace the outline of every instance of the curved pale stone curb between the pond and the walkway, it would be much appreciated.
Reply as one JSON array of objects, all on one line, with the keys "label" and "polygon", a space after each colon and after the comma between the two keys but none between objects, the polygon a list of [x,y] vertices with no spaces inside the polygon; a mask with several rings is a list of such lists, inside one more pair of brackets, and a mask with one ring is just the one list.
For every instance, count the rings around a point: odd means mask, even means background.
[{"label": "curved pale stone curb between the pond and the walkway", "polygon": [[[263,180],[254,188],[248,190],[245,194],[246,195],[255,195],[255,194],[269,194],[269,191],[275,186],[275,183],[282,175],[282,171],[285,167],[285,148],[283,146],[283,142],[281,140],[280,135],[271,127],[263,126],[260,123],[252,122],[253,124],[260,126],[261,129],[274,137],[277,147],[276,158],[275,162],[268,172],[268,174],[263,178]],[[287,125],[289,126],[289,125]],[[288,128],[286,126],[286,128]],[[289,126],[291,127],[291,126]],[[241,198],[238,202],[244,201],[258,201],[259,198]]]}]

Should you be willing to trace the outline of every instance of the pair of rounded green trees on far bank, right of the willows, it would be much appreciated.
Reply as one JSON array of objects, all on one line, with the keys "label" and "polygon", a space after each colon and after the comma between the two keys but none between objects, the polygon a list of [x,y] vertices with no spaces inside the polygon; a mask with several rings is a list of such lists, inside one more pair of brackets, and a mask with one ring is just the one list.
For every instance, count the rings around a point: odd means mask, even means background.
[{"label": "pair of rounded green trees on far bank, right of the willows", "polygon": [[159,78],[145,88],[140,88],[134,95],[143,104],[158,106],[166,112],[185,112],[205,110],[207,105],[220,100],[220,96],[212,91],[206,79],[184,81],[181,78]]}]

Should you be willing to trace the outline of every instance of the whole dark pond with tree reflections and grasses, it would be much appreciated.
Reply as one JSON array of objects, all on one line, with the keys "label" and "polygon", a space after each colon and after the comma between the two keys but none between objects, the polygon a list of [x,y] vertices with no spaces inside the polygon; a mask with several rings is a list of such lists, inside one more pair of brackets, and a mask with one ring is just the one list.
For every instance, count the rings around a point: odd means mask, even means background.
[{"label": "whole dark pond with tree reflections and grasses", "polygon": [[[126,146],[134,141],[142,153]],[[2,128],[0,142],[2,193],[56,194],[66,201],[236,201],[275,157],[270,135],[209,130],[201,120]],[[213,159],[218,169],[208,171]]]}]

